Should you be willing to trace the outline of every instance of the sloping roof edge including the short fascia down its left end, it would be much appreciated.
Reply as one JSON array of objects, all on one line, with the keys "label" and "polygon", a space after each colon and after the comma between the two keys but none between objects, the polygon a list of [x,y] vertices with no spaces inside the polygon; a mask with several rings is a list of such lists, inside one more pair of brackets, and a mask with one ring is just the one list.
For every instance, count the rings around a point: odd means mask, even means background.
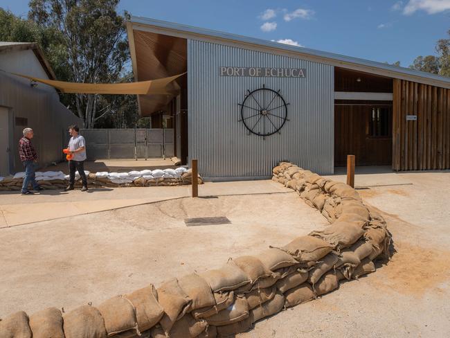
[{"label": "sloping roof edge including the short fascia down its left end", "polygon": [[[358,57],[345,56],[336,53],[318,51],[311,48],[291,46],[280,44],[255,37],[246,37],[224,33],[218,30],[198,28],[183,24],[174,24],[168,21],[148,19],[145,17],[131,17],[127,22],[127,31],[129,37],[130,51],[132,53],[133,70],[136,71],[136,55],[132,41],[132,30],[150,31],[165,35],[184,37],[186,39],[200,39],[219,44],[229,44],[241,48],[249,48],[267,53],[286,54],[291,57],[301,57],[305,60],[312,60],[342,68],[353,69],[355,71],[364,71],[384,75],[390,78],[399,78],[425,84],[431,84],[438,87],[450,88],[450,78],[442,75],[416,71],[415,69],[393,66],[382,62],[360,59]],[[136,72],[135,72],[136,74]]]}]

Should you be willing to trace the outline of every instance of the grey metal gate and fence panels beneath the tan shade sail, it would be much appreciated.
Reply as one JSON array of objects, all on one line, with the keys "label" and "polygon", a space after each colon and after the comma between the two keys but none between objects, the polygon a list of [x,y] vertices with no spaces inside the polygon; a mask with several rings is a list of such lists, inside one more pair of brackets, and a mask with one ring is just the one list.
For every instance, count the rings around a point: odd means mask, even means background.
[{"label": "grey metal gate and fence panels beneath the tan shade sail", "polygon": [[87,159],[148,159],[174,156],[173,129],[82,129]]}]

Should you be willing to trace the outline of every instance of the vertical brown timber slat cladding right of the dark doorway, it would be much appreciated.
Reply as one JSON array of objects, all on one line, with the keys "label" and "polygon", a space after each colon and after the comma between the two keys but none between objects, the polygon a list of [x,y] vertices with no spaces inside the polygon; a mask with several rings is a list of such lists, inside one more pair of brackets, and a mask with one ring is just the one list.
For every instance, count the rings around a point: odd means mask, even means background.
[{"label": "vertical brown timber slat cladding right of the dark doorway", "polygon": [[392,163],[394,170],[450,168],[450,89],[394,80]]}]

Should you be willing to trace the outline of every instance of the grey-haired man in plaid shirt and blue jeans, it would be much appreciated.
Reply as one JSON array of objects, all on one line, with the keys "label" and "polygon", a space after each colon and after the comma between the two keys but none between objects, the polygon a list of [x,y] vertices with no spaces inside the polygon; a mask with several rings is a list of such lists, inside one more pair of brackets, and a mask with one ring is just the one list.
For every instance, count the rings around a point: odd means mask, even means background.
[{"label": "grey-haired man in plaid shirt and blue jeans", "polygon": [[19,157],[20,161],[24,163],[25,177],[24,184],[22,184],[22,195],[32,195],[33,193],[28,190],[28,184],[31,183],[33,190],[42,190],[39,184],[36,182],[35,170],[37,166],[37,154],[36,150],[31,143],[33,139],[33,129],[25,128],[24,137],[19,141]]}]

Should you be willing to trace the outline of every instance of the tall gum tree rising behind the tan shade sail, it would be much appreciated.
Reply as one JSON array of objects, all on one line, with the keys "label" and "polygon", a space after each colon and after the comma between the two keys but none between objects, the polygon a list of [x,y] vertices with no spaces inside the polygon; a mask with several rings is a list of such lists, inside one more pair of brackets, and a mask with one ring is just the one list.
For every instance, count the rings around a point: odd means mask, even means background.
[{"label": "tall gum tree rising behind the tan shade sail", "polygon": [[[64,68],[69,69],[64,80],[86,83],[127,80],[124,71],[129,64],[129,50],[125,37],[125,17],[116,11],[118,2],[30,1],[29,19],[42,30],[55,30],[62,37],[66,58],[61,62]],[[71,109],[82,118],[84,127],[92,128],[107,114],[123,109],[124,99],[99,94],[72,94]]]}]

